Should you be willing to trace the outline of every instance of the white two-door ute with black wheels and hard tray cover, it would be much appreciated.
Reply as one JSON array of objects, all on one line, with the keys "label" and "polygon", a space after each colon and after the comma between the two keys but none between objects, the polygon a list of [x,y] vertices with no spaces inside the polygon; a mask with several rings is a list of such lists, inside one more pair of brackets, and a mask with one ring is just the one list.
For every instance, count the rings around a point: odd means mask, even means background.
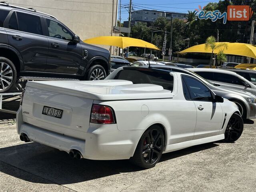
[{"label": "white two-door ute with black wheels and hard tray cover", "polygon": [[28,82],[17,113],[22,141],[143,168],[162,153],[234,142],[243,126],[236,104],[195,76],[155,68],[118,68],[98,81]]}]

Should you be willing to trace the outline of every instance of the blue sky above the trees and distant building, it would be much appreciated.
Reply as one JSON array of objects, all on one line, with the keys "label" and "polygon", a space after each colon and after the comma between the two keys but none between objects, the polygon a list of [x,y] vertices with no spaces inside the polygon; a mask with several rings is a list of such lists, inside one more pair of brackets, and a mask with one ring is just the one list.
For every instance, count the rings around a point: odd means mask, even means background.
[{"label": "blue sky above the trees and distant building", "polygon": [[[132,0],[132,5],[135,10],[148,9],[170,12],[187,13],[188,10],[194,11],[198,6],[204,7],[209,2],[218,2],[219,0]],[[130,0],[121,0],[121,22],[127,21],[129,17],[129,2]],[[120,6],[120,0],[119,0]],[[126,7],[126,8],[123,8]],[[118,8],[118,20],[119,20]]]}]

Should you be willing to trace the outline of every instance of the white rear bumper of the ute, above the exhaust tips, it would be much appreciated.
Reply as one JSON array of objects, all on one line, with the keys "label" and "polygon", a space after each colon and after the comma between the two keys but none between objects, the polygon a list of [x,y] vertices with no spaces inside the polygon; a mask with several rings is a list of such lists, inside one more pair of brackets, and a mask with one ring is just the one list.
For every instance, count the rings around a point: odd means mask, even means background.
[{"label": "white rear bumper of the ute, above the exhaust tips", "polygon": [[116,124],[90,124],[85,138],[78,139],[45,130],[22,120],[17,112],[17,132],[25,133],[31,141],[39,142],[66,152],[78,150],[83,158],[92,160],[119,160],[133,156],[144,130],[120,131]]}]

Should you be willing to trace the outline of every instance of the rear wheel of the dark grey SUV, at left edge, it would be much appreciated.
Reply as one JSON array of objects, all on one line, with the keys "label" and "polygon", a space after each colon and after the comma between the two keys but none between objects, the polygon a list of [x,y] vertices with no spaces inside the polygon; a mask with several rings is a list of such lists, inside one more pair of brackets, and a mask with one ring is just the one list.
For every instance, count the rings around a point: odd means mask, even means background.
[{"label": "rear wheel of the dark grey SUV, at left edge", "polygon": [[8,92],[16,82],[17,72],[14,64],[0,57],[0,93]]}]

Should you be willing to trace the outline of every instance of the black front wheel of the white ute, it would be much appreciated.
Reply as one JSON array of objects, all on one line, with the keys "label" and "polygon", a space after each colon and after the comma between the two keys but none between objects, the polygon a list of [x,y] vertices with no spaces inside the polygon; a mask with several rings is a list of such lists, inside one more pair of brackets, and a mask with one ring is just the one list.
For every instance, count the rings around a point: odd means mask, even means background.
[{"label": "black front wheel of the white ute", "polygon": [[228,121],[228,125],[224,133],[224,140],[226,142],[235,142],[238,140],[238,138],[240,138],[243,130],[244,122],[242,117],[239,114],[234,113]]}]

